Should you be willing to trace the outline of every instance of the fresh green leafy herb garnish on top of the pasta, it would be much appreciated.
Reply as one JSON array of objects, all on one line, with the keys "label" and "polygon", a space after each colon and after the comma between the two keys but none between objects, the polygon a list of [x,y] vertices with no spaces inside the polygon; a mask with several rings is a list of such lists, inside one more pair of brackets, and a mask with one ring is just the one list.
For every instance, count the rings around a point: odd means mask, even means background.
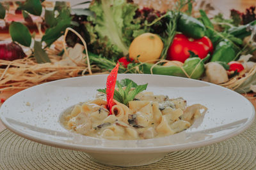
[{"label": "fresh green leafy herb garnish on top of the pasta", "polygon": [[[129,101],[132,101],[134,97],[147,89],[147,85],[137,85],[134,81],[125,78],[120,81],[116,81],[118,90],[115,90],[114,99],[120,103],[127,105]],[[106,89],[98,89],[98,92],[106,93]]]}]

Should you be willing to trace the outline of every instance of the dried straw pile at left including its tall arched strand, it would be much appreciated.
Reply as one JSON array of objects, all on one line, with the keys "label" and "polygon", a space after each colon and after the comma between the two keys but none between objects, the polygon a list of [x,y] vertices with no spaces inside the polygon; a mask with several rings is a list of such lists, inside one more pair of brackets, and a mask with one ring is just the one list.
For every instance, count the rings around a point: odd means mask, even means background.
[{"label": "dried straw pile at left including its tall arched strand", "polygon": [[[65,47],[65,38],[67,32],[74,32],[83,42],[87,63],[77,63],[68,55]],[[81,35],[74,31],[74,29],[67,28],[64,34],[64,41],[56,41],[56,48],[47,48],[46,52],[51,59],[51,63],[38,64],[34,57],[25,57],[24,59],[17,59],[13,61],[0,60],[0,92],[4,90],[14,89],[27,89],[34,85],[44,83],[52,80],[60,80],[63,78],[70,78],[76,76],[84,76],[86,74],[105,74],[108,72],[100,72],[99,67],[93,65],[90,66],[90,60],[88,56],[88,50],[84,39]],[[64,49],[65,54],[72,62],[77,66],[63,66],[58,63],[61,57],[56,55],[60,50]],[[55,63],[55,64],[54,64]]]}]

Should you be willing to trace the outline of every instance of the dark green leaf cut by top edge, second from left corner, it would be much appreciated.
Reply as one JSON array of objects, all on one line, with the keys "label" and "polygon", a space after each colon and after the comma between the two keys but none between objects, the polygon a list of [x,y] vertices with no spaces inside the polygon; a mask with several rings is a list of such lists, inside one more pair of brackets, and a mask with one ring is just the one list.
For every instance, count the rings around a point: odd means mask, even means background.
[{"label": "dark green leaf cut by top edge, second from left corner", "polygon": [[40,16],[42,13],[42,4],[40,0],[27,0],[24,4],[19,6],[19,9]]}]

